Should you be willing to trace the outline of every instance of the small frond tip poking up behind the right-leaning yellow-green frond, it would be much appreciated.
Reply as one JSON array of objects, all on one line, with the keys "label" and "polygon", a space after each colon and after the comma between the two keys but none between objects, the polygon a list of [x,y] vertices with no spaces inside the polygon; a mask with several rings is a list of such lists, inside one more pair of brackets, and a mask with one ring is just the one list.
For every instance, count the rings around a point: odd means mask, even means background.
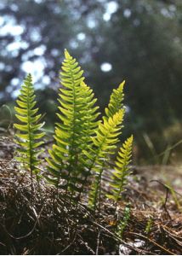
[{"label": "small frond tip poking up behind the right-leaning yellow-green frond", "polygon": [[125,81],[123,81],[121,84],[119,84],[117,89],[114,89],[111,93],[110,102],[108,104],[108,107],[105,108],[105,115],[104,118],[110,118],[113,116],[117,111],[123,108],[123,99],[124,99],[124,93],[123,93],[123,87],[124,87]]}]

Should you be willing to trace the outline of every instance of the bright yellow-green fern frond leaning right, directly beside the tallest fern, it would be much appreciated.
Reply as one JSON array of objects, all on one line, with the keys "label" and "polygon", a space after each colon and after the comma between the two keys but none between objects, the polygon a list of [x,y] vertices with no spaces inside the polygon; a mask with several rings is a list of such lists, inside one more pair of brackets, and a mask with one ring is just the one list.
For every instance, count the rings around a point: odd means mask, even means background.
[{"label": "bright yellow-green fern frond leaning right, directly beside the tallest fern", "polygon": [[[118,136],[121,134],[121,123],[123,120],[124,110],[120,109],[117,113],[110,117],[108,120],[104,119],[100,123],[96,136],[93,137],[95,148],[92,148],[94,158],[91,160],[90,170],[95,172],[95,180],[92,185],[88,198],[88,206],[96,207],[97,199],[100,194],[100,182],[103,168],[107,163],[111,154],[114,154],[117,148]],[[90,154],[88,153],[88,158]]]}]

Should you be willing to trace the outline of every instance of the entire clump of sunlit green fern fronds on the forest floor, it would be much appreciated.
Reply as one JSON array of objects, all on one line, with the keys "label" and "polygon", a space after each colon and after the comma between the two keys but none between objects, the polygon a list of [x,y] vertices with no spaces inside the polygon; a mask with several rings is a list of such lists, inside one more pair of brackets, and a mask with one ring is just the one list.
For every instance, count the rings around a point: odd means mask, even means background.
[{"label": "entire clump of sunlit green fern fronds on the forest floor", "polygon": [[[101,180],[105,167],[110,166],[111,154],[115,154],[119,136],[121,135],[122,120],[125,113],[123,108],[123,84],[113,90],[105,116],[99,120],[98,107],[93,91],[86,85],[82,77],[82,69],[76,59],[65,50],[65,60],[60,72],[59,122],[55,125],[54,144],[48,150],[48,174],[44,175],[48,183],[58,189],[64,189],[71,199],[80,199],[88,185],[88,178],[93,179],[88,192],[88,206],[96,210],[100,204]],[[26,164],[32,174],[36,174],[40,164],[37,156],[42,151],[37,148],[43,142],[40,140],[44,132],[40,132],[43,124],[39,124],[41,114],[37,114],[31,75],[28,75],[17,100],[16,117],[22,124],[14,124],[17,129],[16,140],[21,154],[17,160]],[[131,160],[133,137],[123,143],[118,153],[116,172],[112,174],[111,187],[114,201],[118,201],[127,183],[128,165]],[[32,183],[32,181],[31,181]]]}]

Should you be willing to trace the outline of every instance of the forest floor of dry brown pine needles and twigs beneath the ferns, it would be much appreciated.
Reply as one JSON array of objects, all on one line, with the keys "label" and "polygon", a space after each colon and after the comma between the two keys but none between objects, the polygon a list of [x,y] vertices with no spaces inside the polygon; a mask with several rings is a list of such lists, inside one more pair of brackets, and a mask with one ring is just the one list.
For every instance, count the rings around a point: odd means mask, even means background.
[{"label": "forest floor of dry brown pine needles and twigs beneath the ferns", "polygon": [[182,253],[182,166],[132,166],[117,212],[103,196],[94,213],[84,197],[76,206],[44,182],[31,191],[13,151],[12,140],[2,137],[0,254]]}]

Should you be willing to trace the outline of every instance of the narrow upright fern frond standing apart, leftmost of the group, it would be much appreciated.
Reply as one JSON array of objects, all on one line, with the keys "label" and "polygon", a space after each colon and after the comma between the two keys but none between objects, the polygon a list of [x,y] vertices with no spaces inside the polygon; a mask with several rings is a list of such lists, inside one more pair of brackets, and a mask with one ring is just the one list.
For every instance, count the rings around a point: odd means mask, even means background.
[{"label": "narrow upright fern frond standing apart, leftmost of the group", "polygon": [[44,136],[44,132],[40,131],[44,124],[39,123],[42,115],[37,114],[35,97],[31,74],[28,74],[16,101],[18,107],[14,107],[15,116],[19,120],[19,123],[14,124],[14,128],[16,128],[15,141],[20,146],[19,156],[16,159],[23,162],[27,170],[31,172],[31,185],[33,174],[36,175],[37,180],[39,178],[38,155],[42,151],[38,147],[43,144],[40,139]]}]

